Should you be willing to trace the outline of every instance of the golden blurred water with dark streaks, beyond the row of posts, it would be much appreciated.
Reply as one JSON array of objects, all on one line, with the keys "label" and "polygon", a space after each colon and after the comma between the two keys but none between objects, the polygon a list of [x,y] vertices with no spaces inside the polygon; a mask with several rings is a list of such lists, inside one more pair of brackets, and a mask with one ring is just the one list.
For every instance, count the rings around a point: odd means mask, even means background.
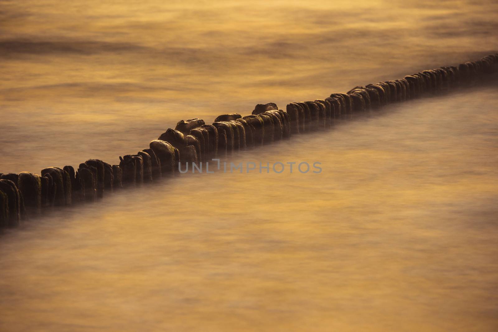
[{"label": "golden blurred water with dark streaks, beyond the row of posts", "polygon": [[496,1],[1,1],[1,172],[497,51]]}]

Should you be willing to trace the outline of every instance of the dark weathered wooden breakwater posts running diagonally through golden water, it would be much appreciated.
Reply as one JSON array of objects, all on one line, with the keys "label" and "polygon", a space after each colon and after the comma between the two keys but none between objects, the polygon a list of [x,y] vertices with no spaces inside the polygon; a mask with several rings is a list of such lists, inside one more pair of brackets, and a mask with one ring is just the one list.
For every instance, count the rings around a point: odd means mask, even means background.
[{"label": "dark weathered wooden breakwater posts running diagonally through golden water", "polygon": [[57,207],[95,202],[123,188],[159,181],[177,173],[178,163],[206,163],[293,135],[328,130],[383,105],[486,83],[497,72],[498,54],[491,54],[459,66],[357,86],[325,99],[292,102],[285,111],[266,103],[257,104],[250,115],[220,115],[212,124],[197,118],[182,120],[148,148],[120,157],[119,165],[89,159],[76,169],[52,166],[40,174],[0,173],[0,228],[16,227]]}]

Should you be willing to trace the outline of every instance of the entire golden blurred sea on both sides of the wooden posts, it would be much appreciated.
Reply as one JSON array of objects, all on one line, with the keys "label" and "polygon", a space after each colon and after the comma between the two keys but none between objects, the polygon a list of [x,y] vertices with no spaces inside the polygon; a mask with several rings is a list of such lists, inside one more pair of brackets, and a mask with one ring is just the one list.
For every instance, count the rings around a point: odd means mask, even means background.
[{"label": "entire golden blurred sea on both sides of the wooden posts", "polygon": [[[496,50],[494,1],[0,1],[0,169]],[[0,331],[496,331],[496,86],[391,105],[1,236]]]}]

